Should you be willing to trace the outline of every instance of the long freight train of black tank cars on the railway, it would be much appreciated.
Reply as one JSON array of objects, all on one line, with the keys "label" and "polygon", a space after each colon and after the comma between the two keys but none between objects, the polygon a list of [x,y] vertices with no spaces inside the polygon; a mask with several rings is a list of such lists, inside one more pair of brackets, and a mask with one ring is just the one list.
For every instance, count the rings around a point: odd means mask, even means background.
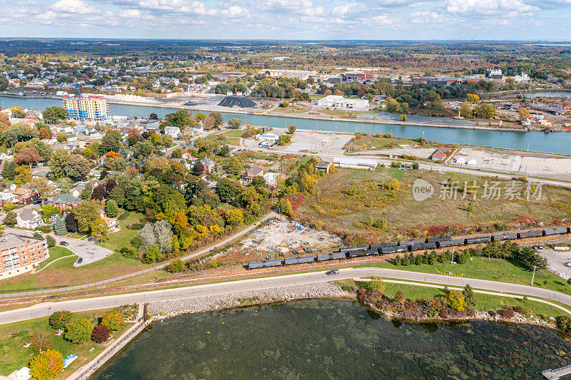
[{"label": "long freight train of black tank cars on the railway", "polygon": [[505,240],[520,240],[529,237],[542,237],[550,235],[565,235],[571,233],[571,227],[551,228],[548,230],[535,230],[513,233],[499,233],[495,235],[468,237],[455,239],[451,236],[430,237],[428,239],[403,240],[400,242],[384,242],[358,247],[343,247],[337,252],[325,253],[316,256],[288,257],[287,259],[274,259],[266,261],[248,262],[246,269],[258,269],[269,267],[282,267],[289,265],[305,264],[308,262],[324,262],[330,260],[351,259],[353,257],[365,257],[376,255],[389,255],[391,253],[413,252],[421,250],[434,250],[436,248],[459,247],[487,242],[501,242]]}]

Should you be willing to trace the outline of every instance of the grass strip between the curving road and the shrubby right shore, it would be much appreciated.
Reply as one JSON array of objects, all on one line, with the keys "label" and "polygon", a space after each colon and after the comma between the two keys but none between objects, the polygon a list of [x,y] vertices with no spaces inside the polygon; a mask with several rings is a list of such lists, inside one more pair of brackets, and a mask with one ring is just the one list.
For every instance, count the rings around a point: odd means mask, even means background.
[{"label": "grass strip between the curving road and the shrubby right shore", "polygon": [[[340,282],[342,286],[350,287],[350,281],[353,280],[344,280]],[[360,287],[367,287],[367,282],[357,282]],[[420,285],[414,284],[397,284],[394,282],[385,282],[385,292],[384,294],[387,297],[393,298],[397,292],[403,292],[405,294],[405,298],[409,299],[410,301],[416,301],[417,299],[423,298],[434,298],[434,297],[446,297],[447,292],[443,287],[435,288],[435,287],[423,287]],[[532,301],[530,299],[519,299],[519,298],[512,298],[512,297],[500,297],[495,296],[492,294],[481,294],[475,293],[477,306],[475,307],[476,310],[486,311],[490,309],[500,309],[502,307],[513,307],[513,306],[521,306],[525,307],[532,312],[532,314],[545,314],[548,317],[557,317],[560,315],[567,315],[567,313],[563,312],[561,309],[557,307],[553,307],[550,304],[545,304],[543,302]],[[549,301],[549,300],[548,300]],[[552,301],[549,301],[552,302]]]}]

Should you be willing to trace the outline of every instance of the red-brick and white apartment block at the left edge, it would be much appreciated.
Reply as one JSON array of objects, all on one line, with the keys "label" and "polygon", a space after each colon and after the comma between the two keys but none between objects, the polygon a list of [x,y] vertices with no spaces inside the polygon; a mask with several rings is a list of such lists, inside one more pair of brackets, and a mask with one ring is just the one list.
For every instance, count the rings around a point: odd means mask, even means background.
[{"label": "red-brick and white apartment block at the left edge", "polygon": [[0,236],[0,278],[28,272],[49,257],[45,239],[16,235]]}]

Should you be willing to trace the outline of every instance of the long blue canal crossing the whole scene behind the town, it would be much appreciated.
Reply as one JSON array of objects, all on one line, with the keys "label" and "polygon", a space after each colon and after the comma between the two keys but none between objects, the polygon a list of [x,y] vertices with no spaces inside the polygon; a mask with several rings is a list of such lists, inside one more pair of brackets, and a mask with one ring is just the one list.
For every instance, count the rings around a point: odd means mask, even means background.
[{"label": "long blue canal crossing the whole scene behind the town", "polygon": [[[21,106],[37,110],[44,110],[49,106],[61,106],[61,101],[50,98],[9,98],[0,97],[0,104],[7,106]],[[163,117],[172,113],[172,108],[154,106],[126,106],[123,104],[109,104],[111,115],[148,116],[156,113]],[[545,153],[571,154],[571,133],[543,133],[514,132],[510,130],[482,130],[466,128],[431,127],[424,125],[398,125],[363,123],[359,121],[313,120],[303,118],[290,118],[287,116],[246,115],[241,113],[223,112],[223,117],[241,118],[245,124],[263,125],[273,128],[284,128],[290,124],[299,129],[322,130],[333,132],[363,132],[363,133],[393,133],[405,138],[423,137],[438,143],[482,145],[493,148],[508,148],[531,150]]]}]

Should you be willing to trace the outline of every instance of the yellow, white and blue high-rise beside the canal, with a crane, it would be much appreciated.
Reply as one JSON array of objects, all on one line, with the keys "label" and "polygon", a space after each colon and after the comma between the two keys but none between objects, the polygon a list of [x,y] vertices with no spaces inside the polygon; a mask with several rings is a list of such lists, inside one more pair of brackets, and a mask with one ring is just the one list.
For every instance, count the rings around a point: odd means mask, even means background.
[{"label": "yellow, white and blue high-rise beside the canal, with a crane", "polygon": [[69,118],[76,121],[93,122],[109,119],[109,108],[105,96],[70,95],[64,98],[64,108]]}]

